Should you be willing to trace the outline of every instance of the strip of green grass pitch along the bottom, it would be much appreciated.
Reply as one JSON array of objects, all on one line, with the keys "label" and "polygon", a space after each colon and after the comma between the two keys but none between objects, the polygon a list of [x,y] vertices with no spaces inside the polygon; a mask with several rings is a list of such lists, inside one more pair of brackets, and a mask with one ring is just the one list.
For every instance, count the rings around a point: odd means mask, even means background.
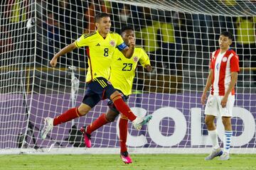
[{"label": "strip of green grass pitch along the bottom", "polygon": [[0,169],[256,169],[255,154],[232,154],[228,161],[205,161],[206,154],[133,154],[124,164],[118,154],[0,155]]}]

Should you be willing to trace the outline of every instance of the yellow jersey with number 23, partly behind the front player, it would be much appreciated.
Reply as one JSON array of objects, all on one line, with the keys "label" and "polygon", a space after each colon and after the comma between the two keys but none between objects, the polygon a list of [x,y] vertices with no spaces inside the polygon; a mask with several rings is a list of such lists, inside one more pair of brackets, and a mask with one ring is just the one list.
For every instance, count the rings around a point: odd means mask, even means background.
[{"label": "yellow jersey with number 23, partly behind the front player", "polygon": [[138,62],[145,67],[150,65],[149,56],[142,47],[135,47],[134,54],[130,59],[124,57],[122,52],[114,50],[111,64],[110,82],[114,89],[119,89],[125,96],[132,94],[132,83]]}]

